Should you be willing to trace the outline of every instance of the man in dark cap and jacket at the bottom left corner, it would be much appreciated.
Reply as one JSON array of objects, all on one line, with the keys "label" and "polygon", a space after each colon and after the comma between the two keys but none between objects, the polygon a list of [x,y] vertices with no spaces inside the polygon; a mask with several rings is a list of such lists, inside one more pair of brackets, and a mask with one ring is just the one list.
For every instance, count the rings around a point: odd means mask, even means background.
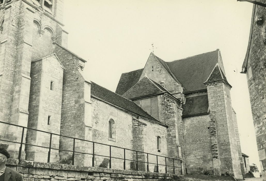
[{"label": "man in dark cap and jacket at the bottom left corner", "polygon": [[4,148],[0,148],[0,181],[23,181],[19,172],[6,167],[10,155]]}]

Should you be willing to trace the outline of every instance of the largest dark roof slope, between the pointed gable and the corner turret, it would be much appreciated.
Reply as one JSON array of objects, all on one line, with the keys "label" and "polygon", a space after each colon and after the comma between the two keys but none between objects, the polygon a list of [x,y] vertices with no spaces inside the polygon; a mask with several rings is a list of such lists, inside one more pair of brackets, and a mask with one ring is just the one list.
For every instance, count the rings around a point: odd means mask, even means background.
[{"label": "largest dark roof slope, between the pointed gable and the corner turret", "polygon": [[167,62],[173,74],[186,91],[206,89],[203,84],[218,62],[218,50]]}]

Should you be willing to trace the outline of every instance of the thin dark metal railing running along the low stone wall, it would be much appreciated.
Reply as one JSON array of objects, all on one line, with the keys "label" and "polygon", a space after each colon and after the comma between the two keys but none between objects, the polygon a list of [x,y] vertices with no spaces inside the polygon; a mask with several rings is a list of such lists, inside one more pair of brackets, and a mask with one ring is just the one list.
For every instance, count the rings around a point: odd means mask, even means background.
[{"label": "thin dark metal railing running along the low stone wall", "polygon": [[[18,144],[20,144],[19,154],[18,154],[18,160],[21,160],[22,146],[23,145],[29,145],[29,146],[36,146],[36,147],[42,147],[42,148],[49,149],[47,163],[50,163],[51,149],[53,149],[53,150],[59,150],[59,151],[72,152],[72,165],[74,165],[74,162],[75,162],[75,153],[80,153],[80,154],[92,155],[92,167],[94,167],[94,159],[95,159],[95,156],[100,156],[100,157],[107,157],[107,158],[109,158],[109,168],[112,168],[111,167],[111,165],[112,165],[111,160],[112,160],[112,158],[114,158],[114,159],[122,159],[122,160],[124,160],[124,170],[126,170],[126,161],[133,161],[133,162],[136,162],[136,170],[137,171],[139,170],[138,169],[139,163],[144,163],[144,164],[147,163],[147,171],[149,171],[149,164],[154,164],[154,165],[156,165],[156,172],[157,173],[159,173],[159,166],[164,166],[165,167],[165,173],[168,172],[167,167],[172,167],[173,168],[173,174],[176,174],[176,172],[175,172],[175,169],[176,168],[180,168],[180,173],[181,173],[181,175],[183,174],[183,171],[182,171],[182,160],[180,160],[180,159],[175,159],[175,158],[170,158],[170,157],[164,157],[164,156],[161,156],[161,155],[156,155],[156,154],[152,154],[152,153],[146,153],[146,152],[142,152],[142,151],[131,150],[131,149],[122,148],[122,147],[119,147],[119,146],[112,146],[112,145],[108,145],[108,144],[104,144],[104,143],[99,143],[99,142],[94,142],[94,141],[89,141],[89,140],[85,140],[85,139],[74,138],[74,137],[69,137],[69,136],[65,136],[65,135],[50,133],[50,132],[47,132],[47,131],[42,131],[42,130],[37,130],[37,129],[34,129],[34,128],[19,126],[19,125],[7,123],[7,122],[0,121],[0,123],[6,124],[6,125],[11,125],[11,126],[16,126],[16,127],[21,127],[22,128],[22,134],[21,134],[21,141],[20,142],[0,139],[0,141],[5,141],[5,142],[11,142],[11,143],[18,143]],[[23,143],[25,129],[39,131],[39,132],[43,132],[43,133],[49,134],[50,135],[49,147],[40,146],[40,145],[33,145],[33,144],[29,144],[29,143]],[[61,137],[73,139],[73,150],[65,150],[65,149],[52,148],[51,147],[52,146],[52,135],[56,135],[56,136],[61,136]],[[75,141],[76,140],[80,140],[80,141],[85,141],[85,142],[92,143],[92,153],[84,153],[84,152],[75,151]],[[109,156],[95,154],[95,144],[109,146]],[[119,148],[119,149],[123,149],[124,150],[124,158],[112,157],[111,156],[112,147]],[[126,150],[135,152],[136,153],[136,160],[126,159]],[[146,161],[140,161],[140,160],[138,160],[138,153],[141,153],[142,155],[146,155],[147,154],[147,162]],[[156,163],[149,162],[149,155],[156,156]],[[159,164],[158,163],[158,157],[164,158],[165,164]],[[167,165],[167,159],[168,159],[168,163],[170,162],[170,160],[172,160],[172,164],[171,165]],[[145,158],[144,158],[144,160],[145,160]],[[178,164],[178,163],[180,163],[180,167],[179,166],[175,166],[175,164]]]}]

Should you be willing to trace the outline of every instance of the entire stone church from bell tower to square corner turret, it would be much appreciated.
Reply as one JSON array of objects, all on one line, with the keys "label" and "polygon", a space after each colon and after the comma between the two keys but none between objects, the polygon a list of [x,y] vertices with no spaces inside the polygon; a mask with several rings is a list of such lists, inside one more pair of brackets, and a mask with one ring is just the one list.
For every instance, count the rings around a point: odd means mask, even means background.
[{"label": "entire stone church from bell tower to square corner turret", "polygon": [[[86,60],[68,50],[63,0],[0,3],[0,121],[48,132],[25,129],[23,159],[47,162],[44,147],[51,139],[50,162],[65,158],[74,147],[80,152],[75,164],[92,166],[92,155],[84,154],[92,153],[92,144],[76,139],[73,145],[72,138],[60,136],[65,135],[106,144],[95,144],[94,166],[113,145],[180,159],[188,173],[242,179],[232,86],[218,49],[171,62],[151,53],[143,69],[121,75],[114,93],[91,82],[84,72]],[[15,159],[21,135],[21,127],[1,123],[0,139],[13,141],[1,143],[9,144]],[[135,152],[112,150],[113,157],[124,154],[136,158]],[[155,160],[149,156],[149,162]],[[130,166],[127,162],[126,169]],[[123,169],[123,162],[112,160],[112,168]],[[143,163],[139,170],[146,168]]]}]

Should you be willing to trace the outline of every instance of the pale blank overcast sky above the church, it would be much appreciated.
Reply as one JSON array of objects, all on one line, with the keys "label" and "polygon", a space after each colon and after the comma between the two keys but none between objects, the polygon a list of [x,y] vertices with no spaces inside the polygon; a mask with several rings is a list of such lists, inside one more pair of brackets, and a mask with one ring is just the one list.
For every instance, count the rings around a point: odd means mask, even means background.
[{"label": "pale blank overcast sky above the church", "polygon": [[236,0],[65,0],[68,48],[90,80],[115,91],[121,73],[143,68],[152,48],[164,61],[221,50],[242,152],[259,167],[246,75],[252,4]]}]

